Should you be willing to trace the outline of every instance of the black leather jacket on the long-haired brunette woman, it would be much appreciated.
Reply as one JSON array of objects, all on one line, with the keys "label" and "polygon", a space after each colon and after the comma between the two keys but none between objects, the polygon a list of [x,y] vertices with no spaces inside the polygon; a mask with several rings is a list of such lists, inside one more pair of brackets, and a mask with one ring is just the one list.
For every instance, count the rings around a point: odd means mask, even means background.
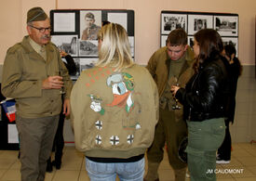
[{"label": "black leather jacket on the long-haired brunette woman", "polygon": [[176,98],[183,104],[184,120],[202,122],[226,117],[229,101],[228,62],[219,55],[199,65],[198,72],[180,88]]}]

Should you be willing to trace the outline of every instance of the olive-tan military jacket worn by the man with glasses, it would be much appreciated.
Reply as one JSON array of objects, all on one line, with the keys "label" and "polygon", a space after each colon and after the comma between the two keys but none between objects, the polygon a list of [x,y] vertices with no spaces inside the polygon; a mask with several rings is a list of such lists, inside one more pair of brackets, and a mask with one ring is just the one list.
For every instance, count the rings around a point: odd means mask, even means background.
[{"label": "olive-tan military jacket worn by the man with glasses", "polygon": [[46,45],[47,60],[34,51],[29,36],[7,50],[2,76],[2,93],[16,100],[17,114],[23,118],[40,118],[61,112],[61,90],[42,89],[43,80],[61,72],[65,98],[69,98],[72,81],[61,61],[59,49]]}]

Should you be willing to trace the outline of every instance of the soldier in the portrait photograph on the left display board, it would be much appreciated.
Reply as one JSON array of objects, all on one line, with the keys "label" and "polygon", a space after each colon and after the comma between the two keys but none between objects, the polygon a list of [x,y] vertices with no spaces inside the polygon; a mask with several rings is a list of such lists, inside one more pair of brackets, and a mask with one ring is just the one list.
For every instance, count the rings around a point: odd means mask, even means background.
[{"label": "soldier in the portrait photograph on the left display board", "polygon": [[86,29],[83,31],[82,40],[97,40],[98,32],[101,30],[100,26],[97,26],[95,23],[95,18],[92,13],[88,13],[85,16],[86,20]]}]

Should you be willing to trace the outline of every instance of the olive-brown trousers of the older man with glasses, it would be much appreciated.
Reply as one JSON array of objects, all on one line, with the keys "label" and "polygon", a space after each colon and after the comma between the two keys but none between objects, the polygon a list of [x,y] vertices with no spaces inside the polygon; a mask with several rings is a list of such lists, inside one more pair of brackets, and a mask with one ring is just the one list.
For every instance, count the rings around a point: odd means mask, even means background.
[{"label": "olive-brown trousers of the older man with glasses", "polygon": [[59,115],[21,118],[16,114],[20,137],[21,181],[43,181]]}]

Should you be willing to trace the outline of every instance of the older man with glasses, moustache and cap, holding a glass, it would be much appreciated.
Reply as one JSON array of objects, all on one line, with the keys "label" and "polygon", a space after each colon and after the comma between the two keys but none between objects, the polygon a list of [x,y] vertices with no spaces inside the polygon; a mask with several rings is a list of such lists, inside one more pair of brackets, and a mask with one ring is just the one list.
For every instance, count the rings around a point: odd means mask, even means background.
[{"label": "older man with glasses, moustache and cap, holding a glass", "polygon": [[43,181],[61,113],[70,113],[72,82],[59,49],[50,43],[50,21],[41,7],[27,13],[23,40],[7,50],[2,93],[16,100],[22,181]]}]

